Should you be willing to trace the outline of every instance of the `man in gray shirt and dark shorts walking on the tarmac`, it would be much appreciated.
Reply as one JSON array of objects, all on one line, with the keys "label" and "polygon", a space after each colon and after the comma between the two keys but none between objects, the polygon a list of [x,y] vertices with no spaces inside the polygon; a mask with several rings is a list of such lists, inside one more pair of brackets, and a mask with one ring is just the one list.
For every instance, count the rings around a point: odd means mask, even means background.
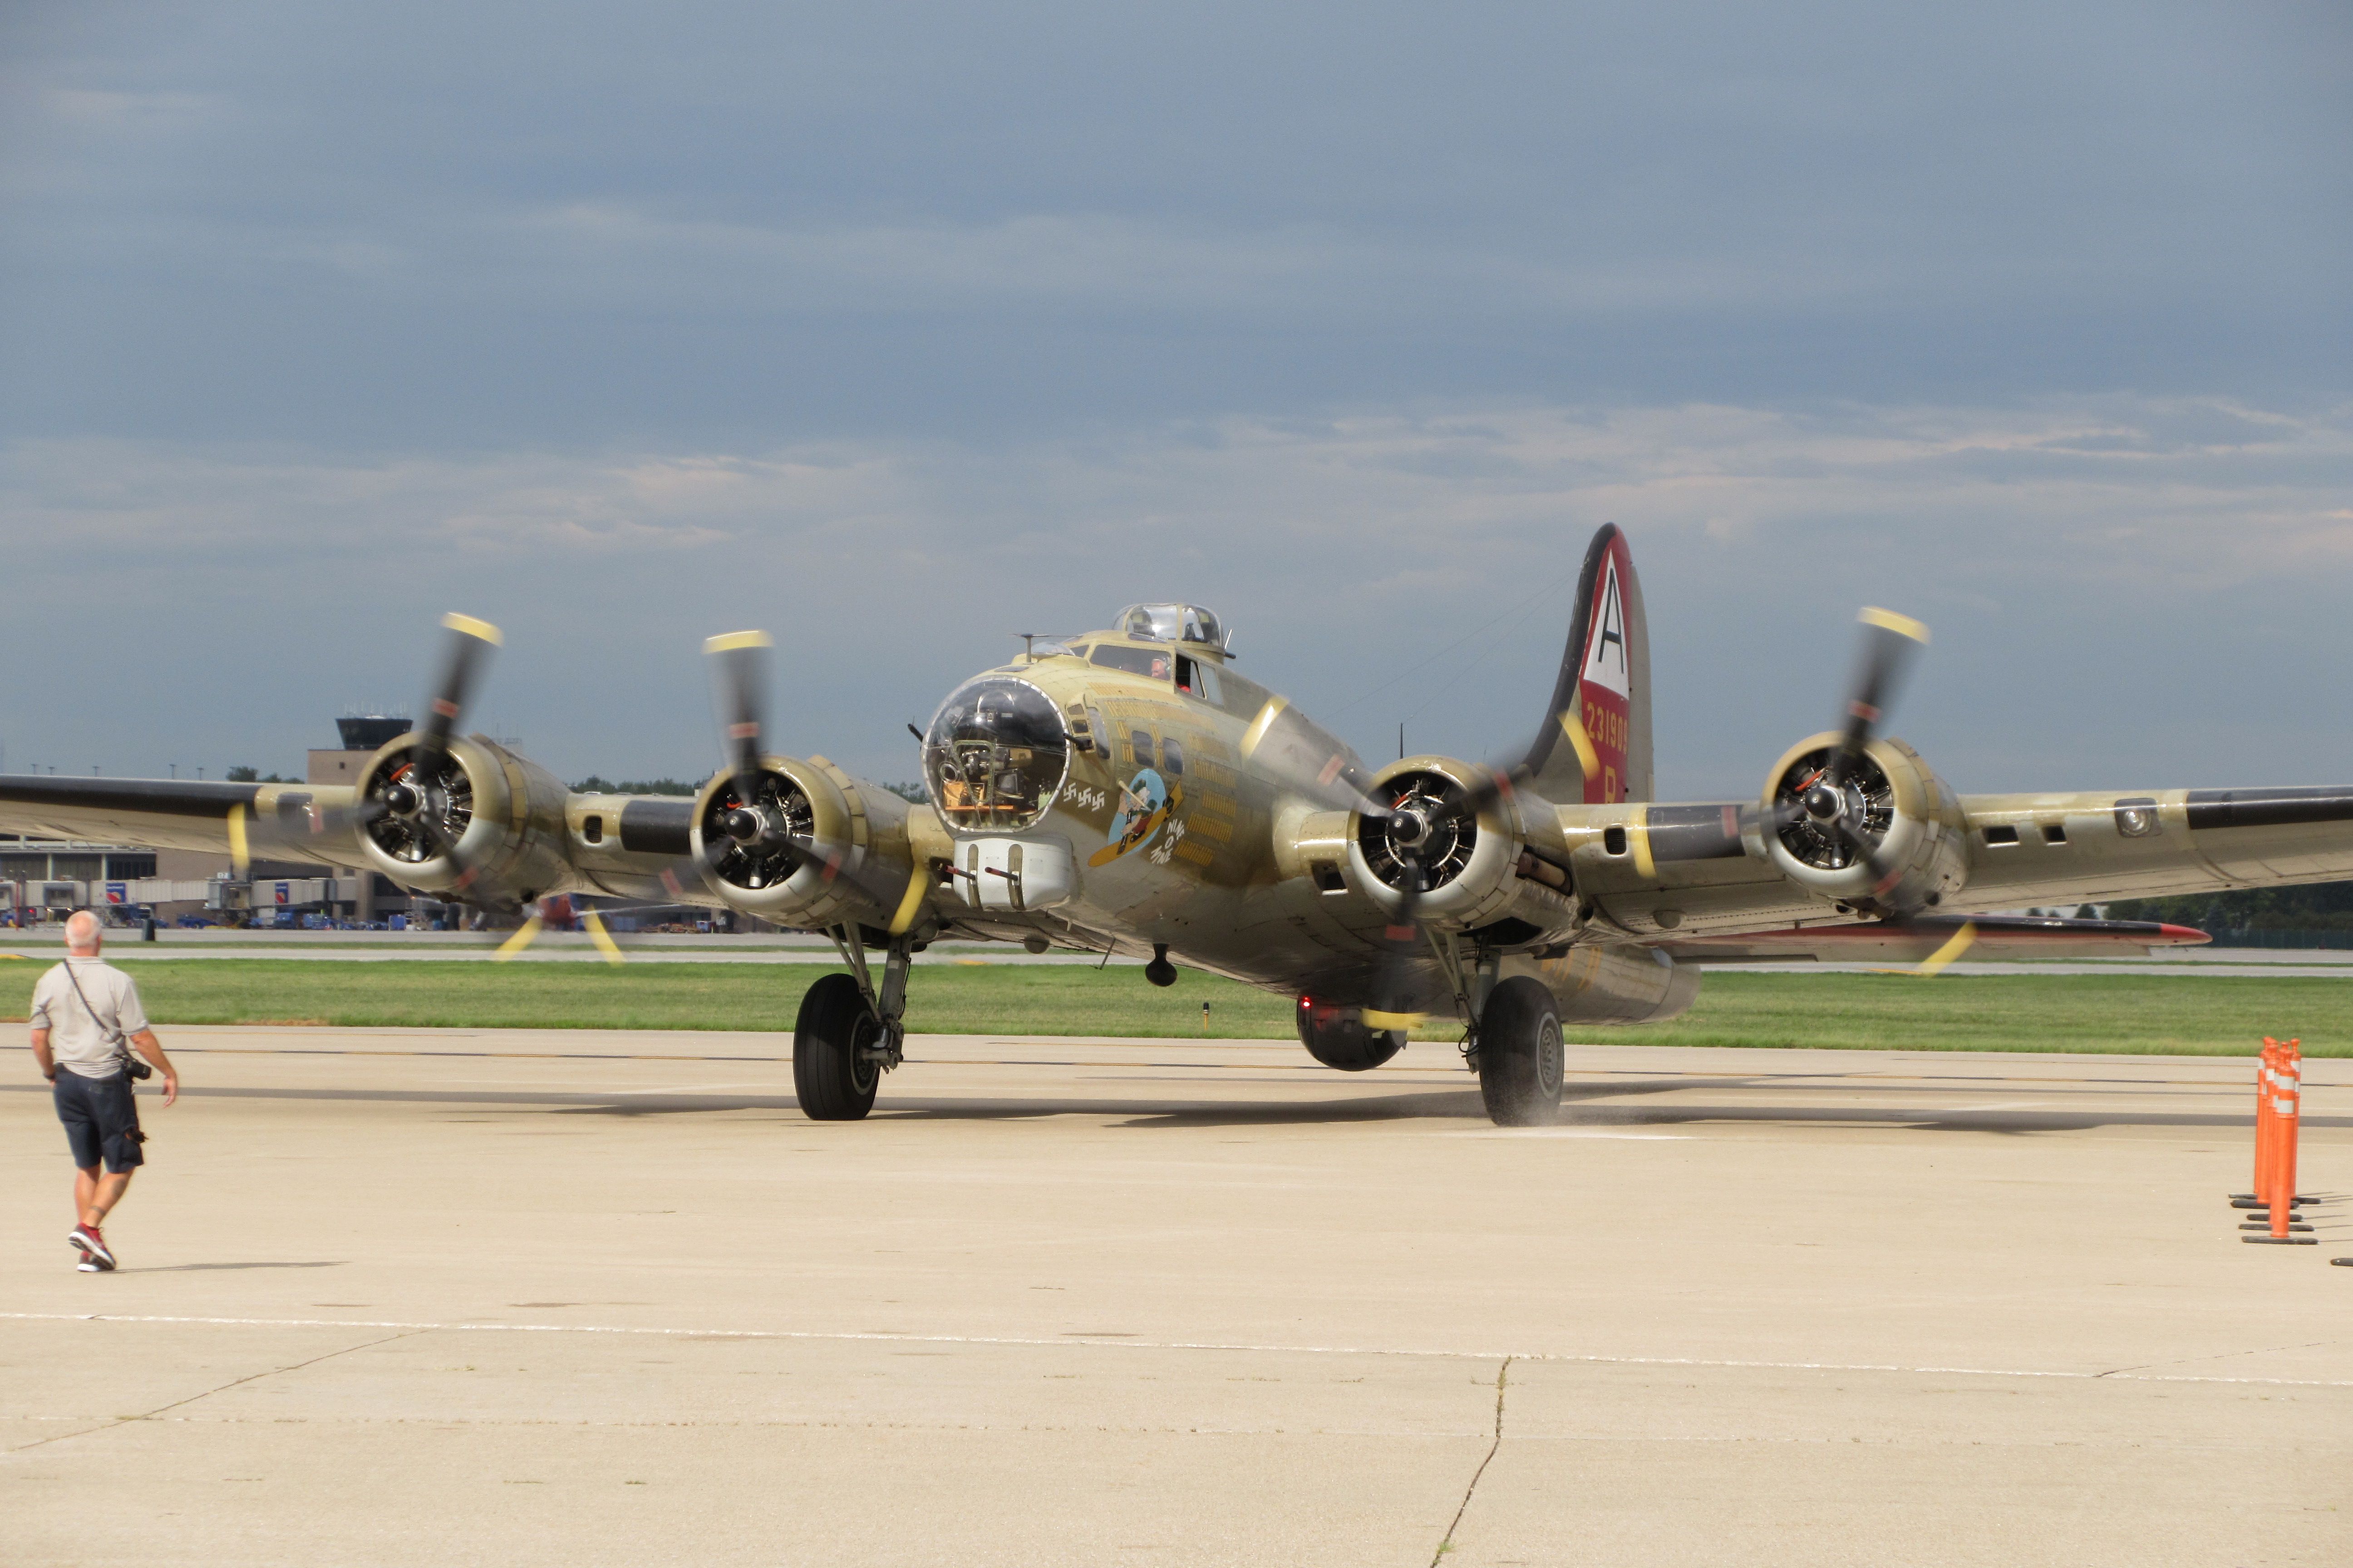
[{"label": "man in gray shirt and dark shorts walking on the tarmac", "polygon": [[33,987],[33,1060],[56,1086],[56,1119],[73,1145],[75,1225],[66,1241],[82,1253],[85,1274],[115,1267],[99,1225],[146,1161],[139,1152],[146,1133],[132,1098],[132,1046],[162,1074],[162,1103],[179,1100],[179,1072],[148,1027],[139,987],[99,957],[101,943],[99,917],[75,910],[66,919],[66,961]]}]

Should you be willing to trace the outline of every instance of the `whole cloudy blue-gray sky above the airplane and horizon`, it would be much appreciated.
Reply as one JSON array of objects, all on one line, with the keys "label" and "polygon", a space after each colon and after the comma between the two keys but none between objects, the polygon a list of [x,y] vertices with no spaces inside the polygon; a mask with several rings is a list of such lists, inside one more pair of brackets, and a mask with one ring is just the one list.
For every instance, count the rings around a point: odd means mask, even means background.
[{"label": "whole cloudy blue-gray sky above the airplane and horizon", "polygon": [[2348,778],[2348,89],[2327,5],[33,0],[0,745],[299,766],[454,607],[565,776],[711,766],[767,625],[901,778],[1014,632],[1193,597],[1478,755],[1617,520],[1668,795],[1861,602],[1965,790]]}]

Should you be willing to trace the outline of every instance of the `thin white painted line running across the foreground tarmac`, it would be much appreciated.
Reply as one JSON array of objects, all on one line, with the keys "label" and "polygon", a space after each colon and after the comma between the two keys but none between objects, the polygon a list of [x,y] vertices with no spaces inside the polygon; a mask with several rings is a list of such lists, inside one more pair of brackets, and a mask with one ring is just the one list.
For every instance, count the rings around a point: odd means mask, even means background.
[{"label": "thin white painted line running across the foreground tarmac", "polygon": [[633,1328],[621,1324],[412,1324],[393,1319],[332,1319],[332,1316],[148,1316],[115,1312],[0,1312],[0,1319],[19,1324],[193,1324],[207,1328],[409,1328],[438,1333],[624,1333],[647,1338],[694,1338],[694,1340],[828,1340],[828,1342],[878,1342],[878,1345],[981,1345],[1045,1349],[1094,1345],[1101,1349],[1209,1349],[1226,1354],[1266,1356],[1409,1356],[1424,1361],[1560,1361],[1572,1366],[1701,1366],[1718,1371],[1767,1371],[1767,1373],[1908,1373],[1925,1378],[2059,1378],[2071,1382],[2212,1382],[2257,1385],[2287,1389],[2353,1389],[2353,1380],[2341,1378],[2200,1378],[2191,1373],[2078,1373],[2033,1371],[2019,1366],[1897,1366],[1880,1361],[1711,1361],[1701,1356],[1572,1356],[1544,1349],[1400,1349],[1395,1345],[1249,1345],[1217,1340],[1129,1340],[1068,1333],[1052,1340],[979,1335],[979,1333],[859,1333],[816,1328]]}]

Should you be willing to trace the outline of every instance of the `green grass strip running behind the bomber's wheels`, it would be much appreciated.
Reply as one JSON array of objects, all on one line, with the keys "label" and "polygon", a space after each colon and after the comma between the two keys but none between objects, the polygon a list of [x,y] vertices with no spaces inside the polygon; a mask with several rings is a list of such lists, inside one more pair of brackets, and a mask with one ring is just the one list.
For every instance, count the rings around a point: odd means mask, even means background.
[{"label": "green grass strip running behind the bomber's wheels", "polygon": [[[14,969],[14,966],[12,966]],[[471,1030],[784,1030],[816,964],[320,964],[174,959],[141,964],[162,1023],[325,1023]],[[38,971],[26,964],[21,985]],[[14,976],[5,976],[14,978]],[[1209,1004],[1207,1027],[1200,1004]],[[918,1034],[1141,1034],[1285,1039],[1292,1004],[1186,971],[1174,987],[1136,969],[915,964]],[[1454,1039],[1447,1020],[1417,1032]],[[1760,976],[1715,973],[1666,1025],[1572,1039],[1654,1046],[1831,1046],[1857,1051],[2113,1051],[2252,1056],[2264,1034],[2306,1056],[2353,1056],[2353,983],[2217,976]]]}]

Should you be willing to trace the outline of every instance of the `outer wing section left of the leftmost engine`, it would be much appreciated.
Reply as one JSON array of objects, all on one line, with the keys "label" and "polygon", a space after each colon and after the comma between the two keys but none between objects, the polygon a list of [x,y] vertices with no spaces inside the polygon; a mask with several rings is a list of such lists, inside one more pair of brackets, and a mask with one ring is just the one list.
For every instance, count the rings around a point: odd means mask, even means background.
[{"label": "outer wing section left of the leftmost engine", "polygon": [[273,858],[358,867],[348,830],[313,832],[325,813],[344,820],[348,785],[264,785],[195,778],[61,778],[0,773],[0,832],[233,853],[231,820]]}]

